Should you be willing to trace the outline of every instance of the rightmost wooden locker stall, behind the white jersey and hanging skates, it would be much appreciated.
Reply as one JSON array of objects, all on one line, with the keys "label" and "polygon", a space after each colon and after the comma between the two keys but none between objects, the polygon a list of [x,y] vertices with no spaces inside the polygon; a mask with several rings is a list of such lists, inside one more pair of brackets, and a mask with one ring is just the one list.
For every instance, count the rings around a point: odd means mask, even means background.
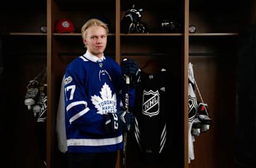
[{"label": "rightmost wooden locker stall, behind the white jersey and hanging skates", "polygon": [[[232,4],[232,5],[230,5]],[[236,167],[235,83],[239,31],[251,22],[253,1],[190,1],[189,62],[208,105],[212,127],[195,137],[189,167]],[[255,6],[255,4],[254,4]],[[239,12],[237,12],[239,11]],[[202,102],[198,92],[197,101]]]}]

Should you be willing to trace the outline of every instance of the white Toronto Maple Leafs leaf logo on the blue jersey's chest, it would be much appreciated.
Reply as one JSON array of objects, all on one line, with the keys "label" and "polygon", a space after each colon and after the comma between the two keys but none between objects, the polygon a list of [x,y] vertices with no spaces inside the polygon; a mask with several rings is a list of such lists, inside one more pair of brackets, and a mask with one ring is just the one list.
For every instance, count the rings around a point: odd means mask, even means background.
[{"label": "white Toronto Maple Leafs leaf logo on the blue jersey's chest", "polygon": [[101,88],[100,96],[91,96],[91,101],[98,110],[98,114],[116,113],[116,94],[112,95],[112,91],[106,83]]}]

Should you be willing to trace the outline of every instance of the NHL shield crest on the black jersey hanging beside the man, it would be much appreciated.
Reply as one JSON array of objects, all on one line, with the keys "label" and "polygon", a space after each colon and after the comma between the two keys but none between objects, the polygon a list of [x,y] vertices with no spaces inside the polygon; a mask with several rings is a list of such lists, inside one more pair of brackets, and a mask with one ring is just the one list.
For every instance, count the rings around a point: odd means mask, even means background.
[{"label": "NHL shield crest on the black jersey hanging beside the man", "polygon": [[142,113],[149,117],[159,114],[160,95],[158,90],[143,90]]}]

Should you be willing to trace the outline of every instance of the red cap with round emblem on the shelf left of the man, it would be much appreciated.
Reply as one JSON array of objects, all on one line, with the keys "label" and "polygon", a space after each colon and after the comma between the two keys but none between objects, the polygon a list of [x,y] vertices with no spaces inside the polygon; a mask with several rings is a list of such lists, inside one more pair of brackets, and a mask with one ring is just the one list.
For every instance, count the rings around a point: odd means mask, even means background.
[{"label": "red cap with round emblem on the shelf left of the man", "polygon": [[74,33],[75,27],[74,24],[69,19],[60,19],[55,24],[55,31],[57,33]]}]

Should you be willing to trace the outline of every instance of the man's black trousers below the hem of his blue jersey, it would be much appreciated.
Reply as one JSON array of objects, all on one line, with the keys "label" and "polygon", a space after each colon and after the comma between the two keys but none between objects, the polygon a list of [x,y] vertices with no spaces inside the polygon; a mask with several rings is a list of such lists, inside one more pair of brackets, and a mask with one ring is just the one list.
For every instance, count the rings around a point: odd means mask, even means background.
[{"label": "man's black trousers below the hem of his blue jersey", "polygon": [[69,168],[115,168],[117,152],[68,153]]}]

